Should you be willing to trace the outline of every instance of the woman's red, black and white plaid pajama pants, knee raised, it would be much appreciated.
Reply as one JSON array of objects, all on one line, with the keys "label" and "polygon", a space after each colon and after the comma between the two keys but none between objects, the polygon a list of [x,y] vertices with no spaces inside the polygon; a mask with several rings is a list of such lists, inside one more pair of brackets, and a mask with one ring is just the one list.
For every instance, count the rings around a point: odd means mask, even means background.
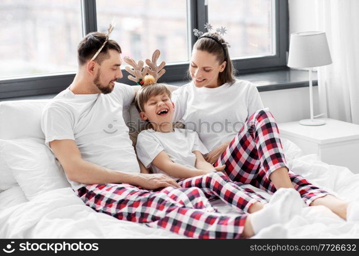
[{"label": "woman's red, black and white plaid pajama pants, knee raised", "polygon": [[[223,164],[228,177],[238,185],[251,184],[270,194],[276,191],[269,176],[277,168],[288,166],[276,121],[269,111],[258,110],[248,118],[214,166]],[[288,170],[294,188],[307,205],[329,194]]]}]

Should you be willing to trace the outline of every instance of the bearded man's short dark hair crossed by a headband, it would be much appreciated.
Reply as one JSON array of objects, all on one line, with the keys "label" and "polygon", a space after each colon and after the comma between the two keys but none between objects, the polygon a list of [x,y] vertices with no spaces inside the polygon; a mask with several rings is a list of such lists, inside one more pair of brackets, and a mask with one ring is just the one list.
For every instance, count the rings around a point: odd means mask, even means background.
[{"label": "bearded man's short dark hair crossed by a headband", "polygon": [[[82,66],[89,61],[99,48],[102,47],[106,41],[106,33],[103,32],[91,32],[88,33],[77,46],[77,61],[78,65]],[[110,57],[108,50],[115,50],[122,53],[121,47],[115,40],[109,39],[101,52],[95,58],[98,64]]]}]

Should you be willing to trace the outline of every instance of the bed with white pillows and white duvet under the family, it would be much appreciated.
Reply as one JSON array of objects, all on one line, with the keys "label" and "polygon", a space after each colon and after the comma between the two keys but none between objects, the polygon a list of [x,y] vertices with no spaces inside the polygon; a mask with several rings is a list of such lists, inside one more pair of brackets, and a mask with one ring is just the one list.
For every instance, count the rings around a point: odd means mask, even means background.
[{"label": "bed with white pillows and white duvet under the family", "polygon": [[[0,238],[186,238],[95,212],[76,197],[43,144],[40,118],[47,101],[0,102]],[[137,121],[133,111],[124,109],[126,121]],[[303,155],[289,140],[282,143],[294,172],[344,200],[359,200],[359,174]],[[220,200],[212,204],[235,213]],[[288,238],[359,238],[359,222],[348,223],[323,206],[304,207],[283,226]]]}]

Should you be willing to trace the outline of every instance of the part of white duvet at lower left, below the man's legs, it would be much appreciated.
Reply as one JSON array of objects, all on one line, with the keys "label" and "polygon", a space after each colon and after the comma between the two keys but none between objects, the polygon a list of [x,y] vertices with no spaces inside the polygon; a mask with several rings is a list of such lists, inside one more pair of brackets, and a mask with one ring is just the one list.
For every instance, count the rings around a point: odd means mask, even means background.
[{"label": "part of white duvet at lower left, below the man's legs", "polygon": [[48,191],[0,211],[0,238],[181,238],[120,221],[86,206],[71,188]]}]

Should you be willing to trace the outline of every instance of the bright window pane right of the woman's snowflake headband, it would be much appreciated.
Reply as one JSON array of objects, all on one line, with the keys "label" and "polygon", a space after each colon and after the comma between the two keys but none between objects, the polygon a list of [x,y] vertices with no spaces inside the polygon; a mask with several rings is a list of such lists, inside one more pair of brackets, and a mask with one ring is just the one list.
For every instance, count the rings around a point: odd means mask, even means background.
[{"label": "bright window pane right of the woman's snowflake headband", "polygon": [[209,0],[208,21],[227,29],[231,58],[274,55],[271,0]]}]

